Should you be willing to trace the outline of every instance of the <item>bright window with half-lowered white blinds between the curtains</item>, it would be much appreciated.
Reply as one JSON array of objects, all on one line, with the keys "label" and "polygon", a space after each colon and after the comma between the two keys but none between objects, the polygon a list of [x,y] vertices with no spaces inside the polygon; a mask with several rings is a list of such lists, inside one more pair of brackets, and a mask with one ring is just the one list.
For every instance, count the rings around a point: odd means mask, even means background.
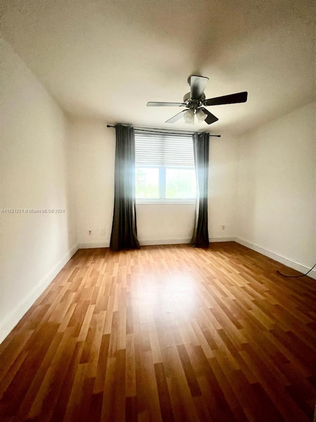
[{"label": "bright window with half-lowered white blinds between the curtains", "polygon": [[192,135],[135,131],[136,201],[195,202]]}]

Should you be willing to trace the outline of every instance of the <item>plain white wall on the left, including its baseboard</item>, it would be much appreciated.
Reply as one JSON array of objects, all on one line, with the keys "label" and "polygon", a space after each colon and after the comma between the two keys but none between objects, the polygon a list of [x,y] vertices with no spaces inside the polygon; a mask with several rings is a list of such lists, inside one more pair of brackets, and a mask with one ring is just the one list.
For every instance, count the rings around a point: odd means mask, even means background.
[{"label": "plain white wall on the left, including its baseboard", "polygon": [[66,119],[9,44],[1,41],[0,341],[76,250]]}]

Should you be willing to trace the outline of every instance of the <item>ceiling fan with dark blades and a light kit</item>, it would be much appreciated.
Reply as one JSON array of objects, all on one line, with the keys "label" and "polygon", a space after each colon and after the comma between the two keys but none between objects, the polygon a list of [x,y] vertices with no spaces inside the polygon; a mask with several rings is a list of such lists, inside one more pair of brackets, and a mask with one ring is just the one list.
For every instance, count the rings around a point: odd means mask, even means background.
[{"label": "ceiling fan with dark blades and a light kit", "polygon": [[192,75],[188,78],[190,93],[184,95],[183,102],[148,102],[147,107],[186,107],[187,110],[180,111],[180,113],[171,117],[165,123],[174,123],[183,116],[187,124],[194,125],[194,116],[197,116],[198,123],[204,121],[208,125],[211,125],[218,118],[204,107],[247,101],[247,92],[205,99],[204,90],[207,82],[208,78],[204,76]]}]

